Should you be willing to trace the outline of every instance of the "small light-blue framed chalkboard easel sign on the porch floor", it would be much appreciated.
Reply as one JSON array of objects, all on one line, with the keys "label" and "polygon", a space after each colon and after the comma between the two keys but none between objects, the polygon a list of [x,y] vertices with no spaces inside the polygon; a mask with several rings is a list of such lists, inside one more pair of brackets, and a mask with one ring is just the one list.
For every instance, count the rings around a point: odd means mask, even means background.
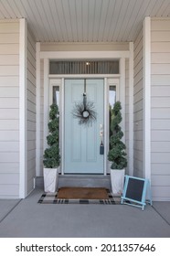
[{"label": "small light-blue framed chalkboard easel sign on the porch floor", "polygon": [[[146,201],[147,192],[149,199]],[[150,205],[153,204],[149,180],[135,176],[125,176],[121,203],[144,209],[146,202]]]}]

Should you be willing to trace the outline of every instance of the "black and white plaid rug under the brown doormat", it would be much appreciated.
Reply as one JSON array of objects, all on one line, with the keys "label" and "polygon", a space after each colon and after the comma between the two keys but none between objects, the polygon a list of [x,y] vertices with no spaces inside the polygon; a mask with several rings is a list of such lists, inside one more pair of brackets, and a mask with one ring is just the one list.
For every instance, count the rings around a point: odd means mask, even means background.
[{"label": "black and white plaid rug under the brown doormat", "polygon": [[58,192],[44,193],[38,200],[39,204],[99,204],[99,205],[119,205],[120,196],[112,196],[107,189],[109,199],[58,199]]}]

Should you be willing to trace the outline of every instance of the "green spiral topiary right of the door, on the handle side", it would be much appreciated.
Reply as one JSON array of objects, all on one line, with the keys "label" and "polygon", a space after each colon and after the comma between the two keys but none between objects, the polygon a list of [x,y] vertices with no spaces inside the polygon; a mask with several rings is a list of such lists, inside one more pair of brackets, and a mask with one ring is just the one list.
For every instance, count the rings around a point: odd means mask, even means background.
[{"label": "green spiral topiary right of the door, on the handle side", "polygon": [[112,169],[123,169],[127,166],[125,149],[126,146],[122,142],[122,128],[119,125],[122,122],[122,106],[120,101],[116,101],[112,109],[112,121],[110,137],[111,148],[108,154],[108,160],[112,162]]}]

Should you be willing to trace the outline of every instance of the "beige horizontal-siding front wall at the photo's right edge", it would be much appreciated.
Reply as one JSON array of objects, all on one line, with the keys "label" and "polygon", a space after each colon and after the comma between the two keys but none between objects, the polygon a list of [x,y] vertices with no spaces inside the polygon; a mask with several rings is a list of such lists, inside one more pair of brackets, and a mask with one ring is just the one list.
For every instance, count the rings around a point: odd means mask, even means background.
[{"label": "beige horizontal-siding front wall at the photo's right edge", "polygon": [[170,19],[151,21],[151,184],[170,200]]}]

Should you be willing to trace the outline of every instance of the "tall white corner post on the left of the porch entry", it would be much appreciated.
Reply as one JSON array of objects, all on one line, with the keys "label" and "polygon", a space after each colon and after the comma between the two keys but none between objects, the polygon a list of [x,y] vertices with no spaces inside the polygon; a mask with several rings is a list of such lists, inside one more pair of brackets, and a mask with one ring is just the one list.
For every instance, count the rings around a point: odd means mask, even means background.
[{"label": "tall white corner post on the left of the porch entry", "polygon": [[27,197],[27,21],[19,29],[19,197]]}]

